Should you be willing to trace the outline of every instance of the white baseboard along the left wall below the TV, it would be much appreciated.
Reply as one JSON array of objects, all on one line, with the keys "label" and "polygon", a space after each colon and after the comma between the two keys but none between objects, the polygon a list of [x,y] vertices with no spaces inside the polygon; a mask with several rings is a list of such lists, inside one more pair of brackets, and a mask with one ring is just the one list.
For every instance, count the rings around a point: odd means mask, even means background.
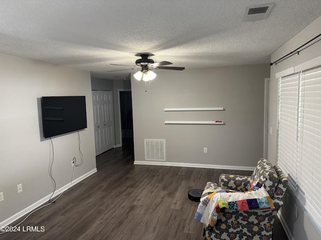
[{"label": "white baseboard along the left wall below the TV", "polygon": [[[91,171],[85,173],[84,175],[76,178],[75,180],[73,180],[70,184],[70,182],[64,186],[62,186],[61,188],[57,189],[54,193],[54,195],[51,197],[52,199],[54,199],[55,196],[58,196],[60,193],[62,193],[63,191],[67,190],[69,187],[77,184],[78,182],[80,182],[81,180],[85,179],[86,177],[90,176],[91,174],[95,173],[97,171],[97,168],[92,169]],[[69,186],[70,185],[70,186]],[[36,201],[35,203],[31,204],[30,206],[26,207],[25,209],[21,210],[20,212],[14,214],[13,216],[5,219],[4,221],[0,222],[0,227],[1,226],[8,226],[10,223],[18,220],[20,217],[26,215],[27,213],[31,212],[32,210],[36,209],[37,207],[41,206],[42,204],[48,202],[50,196],[52,193],[50,193],[49,195],[41,198],[40,200]]]}]

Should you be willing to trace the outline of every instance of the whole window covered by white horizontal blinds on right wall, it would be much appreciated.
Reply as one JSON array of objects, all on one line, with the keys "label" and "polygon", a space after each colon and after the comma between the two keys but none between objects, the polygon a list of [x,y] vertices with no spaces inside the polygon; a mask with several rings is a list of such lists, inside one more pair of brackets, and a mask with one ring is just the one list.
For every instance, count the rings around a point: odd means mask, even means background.
[{"label": "whole window covered by white horizontal blinds on right wall", "polygon": [[278,164],[320,230],[321,66],[279,78]]}]

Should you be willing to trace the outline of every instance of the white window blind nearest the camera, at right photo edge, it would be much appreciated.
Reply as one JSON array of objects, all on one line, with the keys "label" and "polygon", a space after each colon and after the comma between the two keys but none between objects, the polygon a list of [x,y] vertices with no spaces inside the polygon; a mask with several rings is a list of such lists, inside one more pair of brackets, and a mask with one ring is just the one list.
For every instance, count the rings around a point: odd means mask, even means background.
[{"label": "white window blind nearest the camera, at right photo edge", "polygon": [[298,197],[321,222],[321,67],[303,71],[299,84]]}]

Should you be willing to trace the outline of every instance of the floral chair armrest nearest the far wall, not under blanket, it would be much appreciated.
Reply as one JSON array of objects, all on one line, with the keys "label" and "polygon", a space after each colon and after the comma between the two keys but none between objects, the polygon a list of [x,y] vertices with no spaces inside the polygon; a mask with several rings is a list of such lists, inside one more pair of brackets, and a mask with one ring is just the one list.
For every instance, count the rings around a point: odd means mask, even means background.
[{"label": "floral chair armrest nearest the far wall, not under blanket", "polygon": [[236,191],[246,191],[250,188],[250,176],[221,174],[219,185]]}]

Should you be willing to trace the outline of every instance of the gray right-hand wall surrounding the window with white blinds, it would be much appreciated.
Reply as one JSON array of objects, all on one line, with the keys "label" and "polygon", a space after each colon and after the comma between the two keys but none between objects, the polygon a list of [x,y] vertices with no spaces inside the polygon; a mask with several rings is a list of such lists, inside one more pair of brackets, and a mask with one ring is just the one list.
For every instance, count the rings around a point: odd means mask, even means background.
[{"label": "gray right-hand wall surrounding the window with white blinds", "polygon": [[[279,59],[283,55],[293,51],[300,45],[312,39],[320,33],[321,16],[313,21],[309,26],[303,29],[295,37],[285,43],[282,47],[276,50],[271,55],[271,62]],[[319,38],[318,38],[319,39]],[[269,134],[268,139],[268,155],[267,158],[277,163],[277,98],[278,98],[278,81],[275,78],[275,73],[287,69],[291,66],[297,65],[316,56],[321,55],[321,41],[314,41],[311,46],[300,51],[300,54],[293,55],[285,60],[271,66],[271,82],[270,82],[270,101],[269,101],[269,126],[272,127],[272,134]],[[320,172],[321,174],[321,172]],[[288,191],[289,204],[285,204],[281,208],[282,216],[287,224],[290,234],[297,240],[305,239],[321,239],[321,235],[317,232],[306,212],[302,209],[300,204],[296,203],[296,197]],[[294,217],[294,203],[298,206],[298,217]]]}]

